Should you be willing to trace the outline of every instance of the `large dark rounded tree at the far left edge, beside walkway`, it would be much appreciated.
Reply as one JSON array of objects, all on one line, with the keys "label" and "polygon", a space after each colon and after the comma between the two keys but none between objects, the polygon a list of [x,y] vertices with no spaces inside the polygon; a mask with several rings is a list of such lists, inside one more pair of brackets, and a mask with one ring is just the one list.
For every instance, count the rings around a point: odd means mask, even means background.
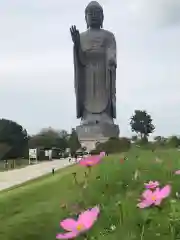
[{"label": "large dark rounded tree at the far left edge, beside walkway", "polygon": [[11,120],[0,119],[1,158],[24,157],[28,149],[28,139],[27,131],[21,125]]}]

